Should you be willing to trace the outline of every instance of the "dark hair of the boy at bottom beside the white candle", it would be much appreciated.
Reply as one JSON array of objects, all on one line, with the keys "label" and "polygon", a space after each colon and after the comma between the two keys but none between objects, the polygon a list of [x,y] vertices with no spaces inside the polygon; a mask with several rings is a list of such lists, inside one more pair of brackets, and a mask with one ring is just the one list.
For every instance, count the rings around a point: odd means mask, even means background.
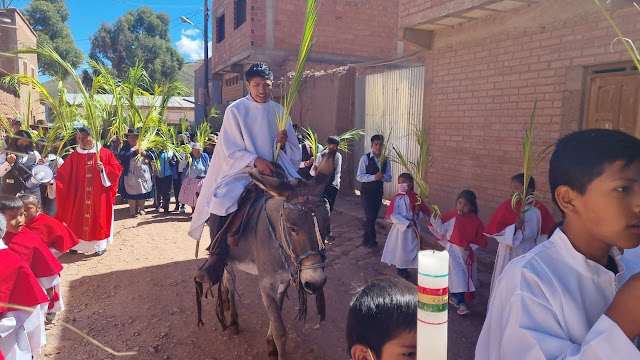
[{"label": "dark hair of the boy at bottom beside the white candle", "polygon": [[347,352],[368,347],[376,358],[389,341],[417,328],[418,290],[400,278],[379,278],[360,289],[347,315]]}]

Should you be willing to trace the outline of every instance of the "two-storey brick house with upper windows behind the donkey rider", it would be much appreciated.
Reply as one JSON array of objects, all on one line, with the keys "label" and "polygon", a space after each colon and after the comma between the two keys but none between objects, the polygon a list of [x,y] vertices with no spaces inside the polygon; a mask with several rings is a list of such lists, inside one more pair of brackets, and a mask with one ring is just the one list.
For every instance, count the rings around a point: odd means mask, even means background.
[{"label": "two-storey brick house with upper windows behind the donkey rider", "polygon": [[[330,70],[404,53],[404,44],[396,37],[398,0],[318,0],[317,4],[318,40],[309,69]],[[224,110],[226,104],[246,96],[243,74],[253,62],[269,63],[276,78],[294,70],[306,7],[306,0],[213,2],[211,74],[207,81],[211,104]],[[196,70],[195,78],[198,122],[204,117],[204,66]]]}]

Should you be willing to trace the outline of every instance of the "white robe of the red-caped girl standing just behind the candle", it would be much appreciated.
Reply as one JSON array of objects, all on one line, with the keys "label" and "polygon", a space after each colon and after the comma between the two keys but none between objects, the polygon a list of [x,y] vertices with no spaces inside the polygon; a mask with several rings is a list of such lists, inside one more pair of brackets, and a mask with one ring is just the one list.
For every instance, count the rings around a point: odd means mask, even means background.
[{"label": "white robe of the red-caped girl standing just behind the candle", "polygon": [[[469,252],[467,249],[452,244],[448,240],[451,234],[453,234],[455,223],[455,217],[443,224],[442,218],[436,220],[432,216],[429,230],[431,230],[433,235],[441,239],[439,243],[449,252],[449,292],[452,294],[466,293],[467,291],[474,292],[476,291],[477,263],[475,261],[473,262],[471,267],[471,281],[469,281],[469,271],[467,269]],[[479,246],[475,244],[470,244],[470,246],[474,251],[479,248]]]}]

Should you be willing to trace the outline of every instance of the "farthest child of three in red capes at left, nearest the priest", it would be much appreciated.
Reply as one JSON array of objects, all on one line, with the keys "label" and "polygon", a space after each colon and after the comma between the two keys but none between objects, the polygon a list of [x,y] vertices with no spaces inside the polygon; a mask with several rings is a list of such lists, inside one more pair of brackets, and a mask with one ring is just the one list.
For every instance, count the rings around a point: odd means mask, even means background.
[{"label": "farthest child of three in red capes at left, nearest the priest", "polygon": [[26,228],[33,231],[59,257],[78,245],[78,237],[60,221],[42,212],[37,196],[18,196],[24,205]]}]

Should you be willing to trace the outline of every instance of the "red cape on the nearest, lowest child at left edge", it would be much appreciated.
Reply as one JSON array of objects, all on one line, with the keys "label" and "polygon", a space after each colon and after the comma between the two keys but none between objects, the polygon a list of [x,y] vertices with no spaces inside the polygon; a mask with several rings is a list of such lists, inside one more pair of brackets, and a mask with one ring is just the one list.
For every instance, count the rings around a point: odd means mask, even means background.
[{"label": "red cape on the nearest, lowest child at left edge", "polygon": [[[49,302],[29,266],[15,252],[0,250],[0,264],[0,302],[26,307]],[[13,310],[0,306],[0,313]]]}]

